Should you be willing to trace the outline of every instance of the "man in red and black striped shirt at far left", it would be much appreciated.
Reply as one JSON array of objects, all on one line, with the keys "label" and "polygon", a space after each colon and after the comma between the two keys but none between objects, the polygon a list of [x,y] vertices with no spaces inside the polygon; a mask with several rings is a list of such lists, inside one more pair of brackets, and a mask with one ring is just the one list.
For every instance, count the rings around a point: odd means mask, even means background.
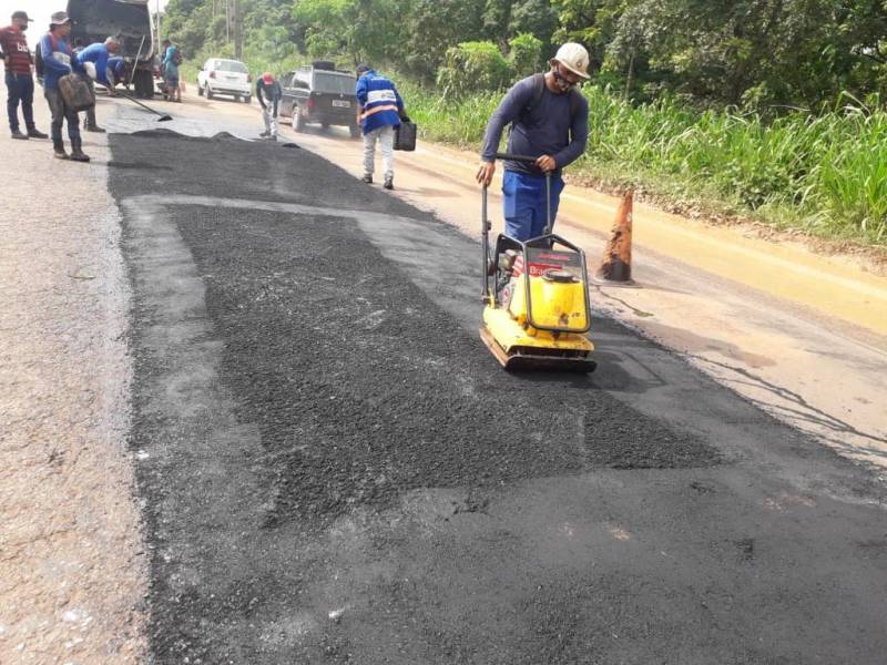
[{"label": "man in red and black striped shirt at far left", "polygon": [[[47,135],[37,131],[34,125],[34,79],[31,74],[31,50],[24,32],[31,19],[28,13],[17,11],[12,13],[12,24],[0,28],[0,51],[3,52],[7,84],[7,112],[9,113],[9,129],[13,139],[45,139]],[[24,116],[27,133],[19,130],[19,103],[21,114]]]}]

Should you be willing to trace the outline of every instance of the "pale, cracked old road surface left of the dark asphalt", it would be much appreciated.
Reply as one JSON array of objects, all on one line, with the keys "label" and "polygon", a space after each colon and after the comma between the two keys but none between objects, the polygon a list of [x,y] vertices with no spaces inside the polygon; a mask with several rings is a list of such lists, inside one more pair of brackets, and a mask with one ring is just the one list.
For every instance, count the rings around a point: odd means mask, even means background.
[{"label": "pale, cracked old road surface left of the dark asphalt", "polygon": [[145,556],[106,141],[85,135],[90,165],[6,129],[0,144],[0,663],[137,663]]}]

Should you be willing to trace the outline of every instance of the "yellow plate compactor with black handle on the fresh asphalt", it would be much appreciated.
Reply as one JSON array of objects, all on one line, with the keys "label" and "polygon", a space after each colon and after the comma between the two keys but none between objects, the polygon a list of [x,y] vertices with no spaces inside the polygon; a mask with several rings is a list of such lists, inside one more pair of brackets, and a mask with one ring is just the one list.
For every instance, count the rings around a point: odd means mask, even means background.
[{"label": "yellow plate compactor with black handle on the fresh asphalt", "polygon": [[[533,157],[497,154],[513,162]],[[487,187],[481,200],[483,325],[480,338],[508,370],[594,371],[585,253],[551,233],[551,176],[546,175],[548,218],[526,242],[499,234],[490,254]]]}]

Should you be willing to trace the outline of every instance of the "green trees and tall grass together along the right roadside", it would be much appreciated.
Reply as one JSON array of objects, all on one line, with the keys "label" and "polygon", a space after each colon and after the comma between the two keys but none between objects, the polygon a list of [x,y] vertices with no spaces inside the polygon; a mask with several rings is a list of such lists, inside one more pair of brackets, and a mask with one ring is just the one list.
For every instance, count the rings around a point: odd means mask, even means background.
[{"label": "green trees and tall grass together along the right roadside", "polygon": [[169,3],[193,63],[368,61],[427,140],[469,150],[508,85],[580,41],[595,75],[571,176],[887,246],[887,1],[239,0],[239,32],[224,4]]}]

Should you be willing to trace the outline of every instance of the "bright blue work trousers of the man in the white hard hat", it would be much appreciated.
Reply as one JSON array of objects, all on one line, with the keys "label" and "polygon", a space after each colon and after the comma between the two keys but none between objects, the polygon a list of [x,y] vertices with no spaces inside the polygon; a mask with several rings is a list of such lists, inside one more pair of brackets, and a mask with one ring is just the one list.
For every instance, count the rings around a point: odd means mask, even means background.
[{"label": "bright blue work trousers of the man in the white hard hat", "polygon": [[[558,215],[563,178],[551,176],[551,226]],[[546,231],[546,178],[506,171],[502,176],[502,212],[506,218],[506,235],[516,241],[529,241]]]}]

